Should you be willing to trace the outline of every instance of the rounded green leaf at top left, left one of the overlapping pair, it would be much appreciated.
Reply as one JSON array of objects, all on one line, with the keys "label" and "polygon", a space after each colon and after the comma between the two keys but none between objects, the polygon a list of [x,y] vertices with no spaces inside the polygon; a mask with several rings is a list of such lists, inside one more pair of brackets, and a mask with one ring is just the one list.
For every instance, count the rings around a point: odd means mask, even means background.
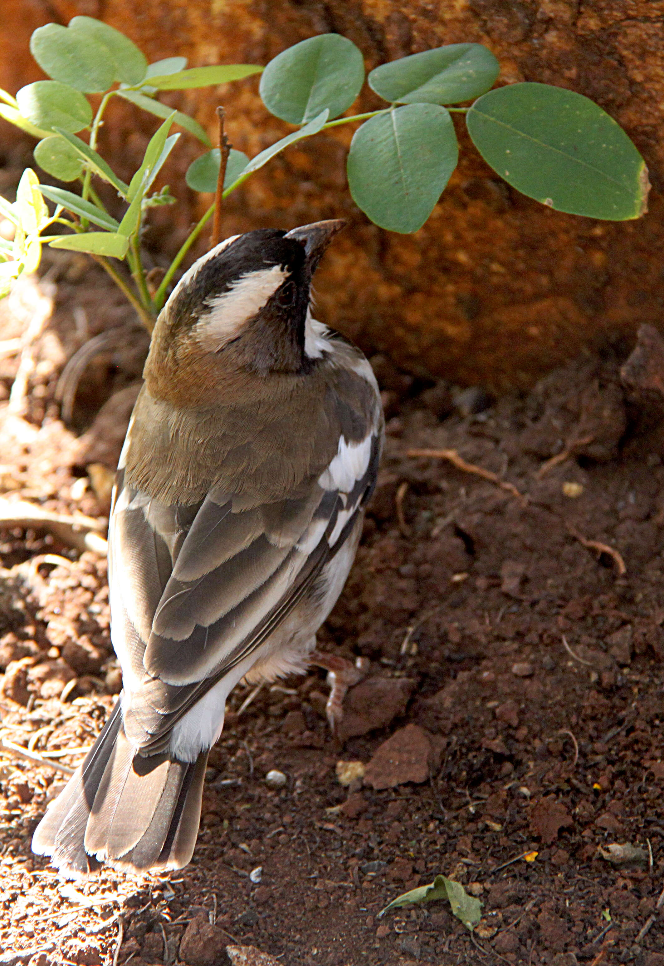
[{"label": "rounded green leaf at top left, left one of the overlapping pair", "polygon": [[105,44],[58,23],[38,27],[30,51],[49,77],[86,94],[107,91],[115,79],[115,63]]}]

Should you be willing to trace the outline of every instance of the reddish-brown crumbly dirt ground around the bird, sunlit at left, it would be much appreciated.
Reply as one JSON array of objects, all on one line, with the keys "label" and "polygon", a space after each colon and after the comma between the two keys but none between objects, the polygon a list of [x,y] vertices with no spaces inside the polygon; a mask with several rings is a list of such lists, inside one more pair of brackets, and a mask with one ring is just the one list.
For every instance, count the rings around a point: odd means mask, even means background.
[{"label": "reddish-brown crumbly dirt ground around the bird, sunlit at left", "polygon": [[[96,269],[48,258],[41,294],[0,307],[0,502],[99,519],[147,340]],[[373,357],[386,454],[319,635],[371,660],[346,740],[322,672],[245,707],[240,686],[179,873],[64,883],[30,852],[121,680],[103,555],[6,524],[0,964],[214,966],[228,945],[283,966],[664,966],[664,405],[621,382],[631,349],[497,402]],[[362,763],[349,784],[339,762]],[[474,935],[440,901],[378,919],[438,872],[483,901]]]}]

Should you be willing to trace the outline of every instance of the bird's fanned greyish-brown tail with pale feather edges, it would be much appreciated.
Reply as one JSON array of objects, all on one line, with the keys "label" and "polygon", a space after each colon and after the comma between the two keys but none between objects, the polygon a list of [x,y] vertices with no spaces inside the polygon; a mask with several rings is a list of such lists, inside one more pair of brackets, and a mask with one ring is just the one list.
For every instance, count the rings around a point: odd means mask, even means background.
[{"label": "bird's fanned greyish-brown tail with pale feather edges", "polygon": [[135,871],[186,865],[196,844],[207,762],[208,752],[191,763],[137,754],[118,702],[83,765],[46,810],[33,851],[75,878],[100,862]]}]

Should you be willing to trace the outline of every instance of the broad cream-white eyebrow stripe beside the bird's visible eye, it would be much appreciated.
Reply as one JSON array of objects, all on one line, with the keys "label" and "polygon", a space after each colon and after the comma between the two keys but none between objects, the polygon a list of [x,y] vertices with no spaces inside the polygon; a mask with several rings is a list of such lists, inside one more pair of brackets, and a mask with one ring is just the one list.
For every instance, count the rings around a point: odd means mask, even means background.
[{"label": "broad cream-white eyebrow stripe beside the bird's visible eye", "polygon": [[263,308],[287,275],[280,265],[241,275],[227,292],[208,299],[208,312],[194,327],[194,333],[206,341],[214,340],[217,348],[223,345]]}]

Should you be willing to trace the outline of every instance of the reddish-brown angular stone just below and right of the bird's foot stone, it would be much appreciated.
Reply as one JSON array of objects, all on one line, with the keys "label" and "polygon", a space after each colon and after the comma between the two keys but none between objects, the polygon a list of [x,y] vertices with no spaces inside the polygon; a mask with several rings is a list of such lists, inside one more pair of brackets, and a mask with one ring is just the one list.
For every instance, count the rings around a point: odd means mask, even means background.
[{"label": "reddish-brown angular stone just below and right of the bird's foot stone", "polygon": [[429,779],[435,761],[433,735],[419,725],[406,725],[383,742],[367,765],[364,781],[375,789],[395,788]]}]

